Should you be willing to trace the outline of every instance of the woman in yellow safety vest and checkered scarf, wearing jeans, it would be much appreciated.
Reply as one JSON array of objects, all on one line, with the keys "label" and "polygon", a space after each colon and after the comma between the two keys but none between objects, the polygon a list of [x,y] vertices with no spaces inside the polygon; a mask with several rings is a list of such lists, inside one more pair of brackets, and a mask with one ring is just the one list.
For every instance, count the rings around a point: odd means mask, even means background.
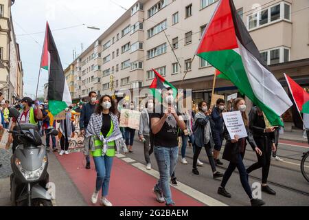
[{"label": "woman in yellow safety vest and checkered scarf, wearing jeans", "polygon": [[91,201],[97,203],[99,191],[102,188],[101,205],[103,206],[112,206],[106,196],[108,195],[113,157],[119,143],[125,146],[116,113],[115,102],[112,102],[111,96],[102,96],[98,107],[91,115],[86,132],[86,137],[91,138],[89,143],[85,144],[89,144],[90,155],[93,156],[97,171],[95,190]]}]

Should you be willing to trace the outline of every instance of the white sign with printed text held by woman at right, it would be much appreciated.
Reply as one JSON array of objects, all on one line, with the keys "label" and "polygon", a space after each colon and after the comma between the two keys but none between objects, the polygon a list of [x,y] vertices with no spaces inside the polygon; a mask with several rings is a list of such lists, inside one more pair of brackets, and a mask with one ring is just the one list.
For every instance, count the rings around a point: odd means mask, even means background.
[{"label": "white sign with printed text held by woman at right", "polygon": [[231,139],[233,139],[235,135],[238,135],[239,138],[248,136],[240,111],[223,112],[222,115]]}]

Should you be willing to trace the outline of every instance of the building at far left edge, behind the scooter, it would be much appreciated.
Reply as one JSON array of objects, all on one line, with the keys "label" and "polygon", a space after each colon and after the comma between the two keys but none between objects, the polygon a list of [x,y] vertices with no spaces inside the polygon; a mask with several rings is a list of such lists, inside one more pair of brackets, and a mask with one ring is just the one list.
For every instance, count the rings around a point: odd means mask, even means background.
[{"label": "building at far left edge, behind the scooter", "polygon": [[0,0],[0,91],[11,102],[23,96],[23,65],[11,16],[14,1]]}]

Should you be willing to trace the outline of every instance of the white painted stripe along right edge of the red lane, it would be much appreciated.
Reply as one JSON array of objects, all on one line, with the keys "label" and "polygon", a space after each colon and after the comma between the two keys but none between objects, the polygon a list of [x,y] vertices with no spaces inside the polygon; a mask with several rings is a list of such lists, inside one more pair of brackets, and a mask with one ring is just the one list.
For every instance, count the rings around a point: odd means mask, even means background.
[{"label": "white painted stripe along right edge of the red lane", "polygon": [[[159,179],[159,172],[157,170],[146,170],[146,166],[141,163],[134,163],[131,164],[135,166],[136,168],[139,168],[139,170],[144,171],[145,173],[148,173],[152,175],[153,177],[156,177]],[[195,190],[194,188],[191,188],[190,186],[187,186],[185,184],[182,184],[181,182],[177,181],[178,186],[172,186],[181,192],[184,192],[185,194],[189,195],[190,197],[193,197],[194,199],[201,201],[201,203],[204,203],[207,206],[228,206],[225,203],[222,203],[221,201],[218,201],[217,199],[214,199],[212,197],[209,197],[208,195],[203,194],[202,192],[199,192],[198,190]]]}]

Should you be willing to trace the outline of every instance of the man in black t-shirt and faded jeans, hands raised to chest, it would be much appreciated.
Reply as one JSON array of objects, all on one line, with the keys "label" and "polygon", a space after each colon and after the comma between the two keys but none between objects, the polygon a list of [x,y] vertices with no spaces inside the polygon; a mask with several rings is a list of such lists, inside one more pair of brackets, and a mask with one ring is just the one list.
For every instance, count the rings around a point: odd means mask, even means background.
[{"label": "man in black t-shirt and faded jeans, hands raised to chest", "polygon": [[174,172],[178,157],[178,129],[185,129],[185,122],[177,115],[174,109],[172,88],[162,91],[163,104],[155,108],[150,114],[151,131],[155,146],[155,158],[157,160],[160,179],[153,192],[157,201],[166,206],[174,206],[170,190],[170,177]]}]

